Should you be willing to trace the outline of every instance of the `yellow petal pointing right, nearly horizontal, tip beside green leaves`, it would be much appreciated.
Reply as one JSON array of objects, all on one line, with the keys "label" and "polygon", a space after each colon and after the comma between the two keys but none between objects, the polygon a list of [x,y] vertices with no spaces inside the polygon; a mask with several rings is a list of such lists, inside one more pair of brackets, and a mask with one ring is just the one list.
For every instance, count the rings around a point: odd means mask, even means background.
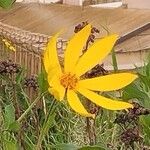
[{"label": "yellow petal pointing right, nearly horizontal, tip beside green leaves", "polygon": [[94,91],[113,91],[121,89],[137,78],[131,73],[117,73],[79,81],[79,86]]}]

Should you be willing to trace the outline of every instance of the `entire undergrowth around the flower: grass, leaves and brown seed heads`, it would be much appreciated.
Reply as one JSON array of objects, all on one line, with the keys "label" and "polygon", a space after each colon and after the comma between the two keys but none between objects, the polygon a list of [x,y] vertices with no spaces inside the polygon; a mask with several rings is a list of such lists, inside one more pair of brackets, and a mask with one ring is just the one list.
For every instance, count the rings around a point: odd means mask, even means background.
[{"label": "entire undergrowth around the flower: grass, leaves and brown seed heads", "polygon": [[[112,58],[117,71],[114,51]],[[90,105],[95,120],[75,114],[66,101],[56,101],[47,91],[44,70],[36,78],[26,78],[24,68],[10,61],[0,64],[0,150],[149,149],[150,62],[137,68],[139,78],[134,83],[118,91],[121,99],[139,105],[119,112]],[[101,94],[118,97],[116,92]],[[139,132],[131,130],[134,127]]]}]

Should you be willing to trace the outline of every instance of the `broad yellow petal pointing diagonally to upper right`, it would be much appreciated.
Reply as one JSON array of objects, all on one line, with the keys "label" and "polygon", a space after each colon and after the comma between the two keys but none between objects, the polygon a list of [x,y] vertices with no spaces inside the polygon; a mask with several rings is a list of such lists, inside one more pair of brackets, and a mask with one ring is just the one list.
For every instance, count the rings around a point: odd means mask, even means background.
[{"label": "broad yellow petal pointing diagonally to upper right", "polygon": [[114,34],[95,42],[79,59],[75,68],[76,75],[81,76],[100,63],[112,50],[117,37]]}]

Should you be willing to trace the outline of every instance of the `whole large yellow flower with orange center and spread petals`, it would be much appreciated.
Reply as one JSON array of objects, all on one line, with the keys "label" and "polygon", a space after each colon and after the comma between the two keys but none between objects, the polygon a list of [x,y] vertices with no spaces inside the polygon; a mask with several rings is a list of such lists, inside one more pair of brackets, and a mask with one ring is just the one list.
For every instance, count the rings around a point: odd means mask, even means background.
[{"label": "whole large yellow flower with orange center and spread petals", "polygon": [[57,100],[63,100],[66,95],[71,108],[86,117],[94,115],[87,112],[77,96],[78,93],[88,98],[91,102],[110,110],[122,110],[132,108],[132,104],[112,100],[98,95],[94,91],[118,90],[130,84],[137,78],[131,73],[116,73],[91,79],[80,79],[88,70],[92,69],[100,60],[104,59],[114,46],[118,36],[110,35],[98,40],[83,56],[82,49],[91,32],[91,26],[87,25],[76,33],[68,42],[65,50],[64,68],[62,69],[57,55],[56,41],[59,34],[53,36],[44,52],[44,66],[48,74],[50,85],[49,92]]}]

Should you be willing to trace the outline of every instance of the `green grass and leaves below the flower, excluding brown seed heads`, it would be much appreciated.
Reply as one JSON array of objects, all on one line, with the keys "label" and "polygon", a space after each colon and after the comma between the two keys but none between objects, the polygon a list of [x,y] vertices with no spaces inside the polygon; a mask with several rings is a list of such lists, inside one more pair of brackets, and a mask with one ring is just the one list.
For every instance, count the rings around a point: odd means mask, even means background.
[{"label": "green grass and leaves below the flower, excluding brown seed heads", "polygon": [[[145,85],[148,72],[148,65],[138,71],[142,79],[139,78],[126,87],[123,90],[123,98],[136,98],[140,104],[150,107],[148,105],[149,87]],[[25,73],[24,69],[20,69],[15,74],[0,75],[0,144],[4,150],[20,148],[25,150],[126,149],[120,140],[120,132],[123,131],[114,123],[115,112],[100,108],[94,121],[96,141],[90,146],[86,118],[74,114],[66,102],[58,103],[49,95],[46,91],[47,81],[44,71],[38,75],[39,88],[33,90],[36,96],[31,99],[28,88],[32,87],[24,87]],[[133,95],[136,91],[138,94]],[[112,98],[115,93],[105,93],[105,96]],[[90,121],[93,122],[93,120]],[[140,117],[141,134],[145,145],[149,145],[149,123],[148,116]],[[139,147],[138,144],[135,146]]]}]

